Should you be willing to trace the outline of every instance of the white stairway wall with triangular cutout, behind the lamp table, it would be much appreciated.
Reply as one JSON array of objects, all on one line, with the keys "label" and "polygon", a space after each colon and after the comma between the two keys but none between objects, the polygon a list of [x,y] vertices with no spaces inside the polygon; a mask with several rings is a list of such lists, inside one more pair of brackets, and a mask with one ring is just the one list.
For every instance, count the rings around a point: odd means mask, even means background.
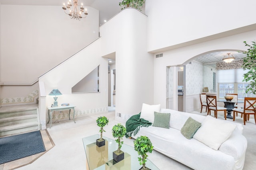
[{"label": "white stairway wall with triangular cutout, behind the lamp table", "polygon": [[[44,84],[46,94],[45,106],[40,107],[40,114],[46,115],[46,106],[54,102],[52,96],[48,96],[54,88],[58,88],[63,94],[58,96],[58,105],[61,103],[75,105],[76,117],[108,111],[108,59],[101,57],[98,50],[100,47],[101,39],[97,39],[66,62],[39,77],[39,84]],[[98,65],[100,65],[100,92],[72,94],[71,88]],[[41,95],[41,97],[44,96]],[[44,127],[45,120],[41,119],[41,124]]]}]

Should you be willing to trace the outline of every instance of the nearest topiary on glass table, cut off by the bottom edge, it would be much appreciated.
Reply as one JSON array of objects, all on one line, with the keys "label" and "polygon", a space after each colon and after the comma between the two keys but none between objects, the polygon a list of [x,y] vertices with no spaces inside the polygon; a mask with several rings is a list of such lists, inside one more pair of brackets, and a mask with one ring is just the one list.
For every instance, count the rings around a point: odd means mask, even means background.
[{"label": "nearest topiary on glass table, cut off by the bottom edge", "polygon": [[150,139],[146,136],[137,137],[137,139],[134,141],[134,150],[136,150],[138,154],[141,155],[141,157],[138,157],[140,165],[142,165],[140,170],[150,170],[146,167],[146,161],[148,157],[147,153],[152,153],[153,150]]}]

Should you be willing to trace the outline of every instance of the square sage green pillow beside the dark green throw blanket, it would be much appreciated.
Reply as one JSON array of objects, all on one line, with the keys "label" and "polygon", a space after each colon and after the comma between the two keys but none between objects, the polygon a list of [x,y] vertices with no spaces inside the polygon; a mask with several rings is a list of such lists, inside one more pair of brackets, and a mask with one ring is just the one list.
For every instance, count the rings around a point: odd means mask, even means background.
[{"label": "square sage green pillow beside the dark green throw blanket", "polygon": [[154,127],[163,127],[169,129],[170,113],[158,113],[154,112]]}]

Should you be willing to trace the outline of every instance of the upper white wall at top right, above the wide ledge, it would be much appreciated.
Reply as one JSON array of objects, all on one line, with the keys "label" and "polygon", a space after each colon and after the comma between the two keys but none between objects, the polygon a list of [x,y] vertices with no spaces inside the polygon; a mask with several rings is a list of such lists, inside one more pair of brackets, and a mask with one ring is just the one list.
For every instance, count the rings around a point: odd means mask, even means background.
[{"label": "upper white wall at top right, above the wide ledge", "polygon": [[[148,51],[256,23],[255,0],[146,0]],[[191,44],[191,43],[190,43]],[[162,50],[163,51],[163,50]]]}]

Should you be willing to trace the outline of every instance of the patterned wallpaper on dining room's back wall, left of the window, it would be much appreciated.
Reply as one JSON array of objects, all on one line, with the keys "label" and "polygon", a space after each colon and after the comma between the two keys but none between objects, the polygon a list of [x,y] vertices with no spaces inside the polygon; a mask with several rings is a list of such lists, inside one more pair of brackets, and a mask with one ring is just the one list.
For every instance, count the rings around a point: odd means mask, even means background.
[{"label": "patterned wallpaper on dining room's back wall, left of the window", "polygon": [[213,90],[213,72],[216,72],[215,68],[204,65],[204,82],[203,86],[208,87],[209,92]]}]

